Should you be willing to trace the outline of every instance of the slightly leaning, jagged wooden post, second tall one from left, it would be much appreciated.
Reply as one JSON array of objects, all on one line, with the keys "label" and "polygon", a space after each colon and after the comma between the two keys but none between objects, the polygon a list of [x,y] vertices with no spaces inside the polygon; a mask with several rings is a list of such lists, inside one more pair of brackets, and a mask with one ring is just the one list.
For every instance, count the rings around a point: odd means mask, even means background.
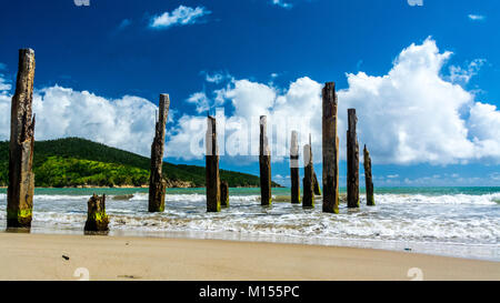
[{"label": "slightly leaning, jagged wooden post, second tall one from left", "polygon": [[156,123],[154,139],[151,144],[151,174],[149,176],[149,212],[164,211],[167,182],[162,175],[164,127],[169,115],[170,99],[160,94],[159,115]]}]

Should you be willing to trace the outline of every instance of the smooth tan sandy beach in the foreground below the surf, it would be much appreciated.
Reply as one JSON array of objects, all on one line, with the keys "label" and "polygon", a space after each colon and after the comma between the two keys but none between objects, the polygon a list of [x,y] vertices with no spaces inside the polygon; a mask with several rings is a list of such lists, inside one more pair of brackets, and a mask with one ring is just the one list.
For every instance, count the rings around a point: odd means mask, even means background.
[{"label": "smooth tan sandy beach in the foreground below the surf", "polygon": [[[69,257],[68,260],[63,256]],[[367,249],[0,233],[0,280],[500,280],[500,262]],[[81,270],[80,270],[81,271]],[[84,272],[86,270],[83,270]]]}]

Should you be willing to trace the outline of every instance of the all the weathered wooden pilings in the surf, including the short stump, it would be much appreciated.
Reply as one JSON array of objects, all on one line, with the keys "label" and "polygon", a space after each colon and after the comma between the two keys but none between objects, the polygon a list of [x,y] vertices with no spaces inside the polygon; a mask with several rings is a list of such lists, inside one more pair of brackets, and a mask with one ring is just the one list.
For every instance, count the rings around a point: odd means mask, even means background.
[{"label": "all the weathered wooden pilings in the surf, including the short stump", "polygon": [[[16,93],[11,107],[11,137],[9,145],[9,186],[7,202],[8,228],[30,228],[32,220],[34,174],[33,144],[34,144],[34,115],[32,114],[32,93],[34,80],[34,51],[19,50],[19,65],[16,83]],[[322,165],[323,165],[323,206],[327,213],[339,212],[339,138],[337,135],[337,94],[333,82],[326,83],[322,90]],[[156,119],[154,139],[151,144],[151,172],[149,181],[149,212],[164,211],[167,182],[162,176],[162,159],[164,153],[164,134],[170,99],[168,94],[160,94],[159,112]],[[347,131],[347,163],[348,163],[348,206],[359,208],[359,147],[356,133],[356,110],[348,110],[349,128]],[[220,181],[219,150],[217,142],[217,123],[213,117],[207,119],[207,211],[219,212],[222,206],[229,206],[229,185]],[[303,199],[304,208],[314,206],[314,195],[321,194],[318,178],[312,161],[311,138],[309,144],[303,147],[304,178]],[[374,205],[373,183],[371,178],[371,160],[364,147],[364,178],[367,190],[367,204]],[[259,166],[261,205],[271,205],[271,153],[267,137],[267,118],[260,118]],[[298,132],[291,133],[290,148],[290,176],[291,203],[300,203],[300,173]],[[92,195],[88,202],[88,218],[86,230],[108,230],[108,215],[106,214],[106,196]]]}]

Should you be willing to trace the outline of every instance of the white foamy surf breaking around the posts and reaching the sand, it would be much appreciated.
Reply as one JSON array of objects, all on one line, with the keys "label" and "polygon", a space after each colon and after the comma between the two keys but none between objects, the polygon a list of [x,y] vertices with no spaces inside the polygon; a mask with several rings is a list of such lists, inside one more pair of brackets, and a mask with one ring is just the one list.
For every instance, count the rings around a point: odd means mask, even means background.
[{"label": "white foamy surf breaking around the posts and reaching the sand", "polygon": [[[86,221],[88,198],[37,195],[33,226],[80,231]],[[7,195],[0,194],[0,201],[3,201],[0,202],[0,224],[6,221],[6,200]],[[253,194],[231,195],[229,209],[220,213],[207,213],[204,194],[174,193],[167,194],[163,213],[149,213],[148,193],[137,192],[130,200],[109,199],[107,212],[111,231],[121,232],[229,233],[271,239],[287,236],[316,244],[332,243],[333,240],[410,241],[492,245],[498,252],[499,200],[500,193],[377,194],[374,208],[362,205],[359,210],[349,210],[341,204],[340,213],[332,215],[321,212],[321,200],[317,200],[313,210],[303,210],[301,205],[287,202],[261,208],[259,195]]]}]

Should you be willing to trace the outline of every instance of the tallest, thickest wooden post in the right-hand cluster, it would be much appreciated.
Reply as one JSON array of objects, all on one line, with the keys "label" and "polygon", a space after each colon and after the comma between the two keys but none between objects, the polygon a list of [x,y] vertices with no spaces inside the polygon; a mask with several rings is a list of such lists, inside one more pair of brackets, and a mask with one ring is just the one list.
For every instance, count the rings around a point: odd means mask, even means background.
[{"label": "tallest, thickest wooden post in the right-hand cluster", "polygon": [[323,212],[339,212],[339,138],[337,137],[336,83],[322,90]]}]

